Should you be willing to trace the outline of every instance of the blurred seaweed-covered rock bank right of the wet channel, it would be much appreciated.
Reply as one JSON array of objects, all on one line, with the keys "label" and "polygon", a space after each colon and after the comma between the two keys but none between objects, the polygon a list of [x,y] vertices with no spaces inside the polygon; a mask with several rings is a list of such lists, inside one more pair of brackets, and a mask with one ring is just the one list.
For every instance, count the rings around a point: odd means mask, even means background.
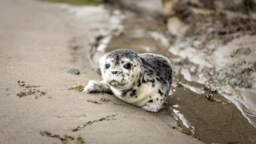
[{"label": "blurred seaweed-covered rock bank right of the wet channel", "polygon": [[[162,0],[176,73],[236,104],[255,127],[256,1]],[[186,73],[184,72],[186,71]]]}]

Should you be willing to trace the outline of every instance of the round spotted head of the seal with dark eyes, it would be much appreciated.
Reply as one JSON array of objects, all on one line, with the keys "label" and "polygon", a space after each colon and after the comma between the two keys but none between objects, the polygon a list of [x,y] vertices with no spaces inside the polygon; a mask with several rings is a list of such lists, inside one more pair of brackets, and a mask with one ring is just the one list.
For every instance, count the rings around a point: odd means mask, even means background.
[{"label": "round spotted head of the seal with dark eyes", "polygon": [[103,80],[120,91],[131,89],[143,73],[140,56],[129,49],[110,52],[101,65]]}]

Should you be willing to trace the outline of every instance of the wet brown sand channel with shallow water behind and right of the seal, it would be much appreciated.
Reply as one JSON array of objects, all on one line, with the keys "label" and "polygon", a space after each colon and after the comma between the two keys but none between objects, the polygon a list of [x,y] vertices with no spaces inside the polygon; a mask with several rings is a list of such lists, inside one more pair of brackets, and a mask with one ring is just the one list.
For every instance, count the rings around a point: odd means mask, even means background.
[{"label": "wet brown sand channel with shallow water behind and right of the seal", "polygon": [[[175,42],[175,38],[168,35],[161,20],[137,14],[123,20],[122,24],[124,25],[123,34],[114,36],[105,52],[118,48],[128,48],[138,53],[162,54],[170,60],[174,60],[176,73],[172,92],[161,113],[174,117],[178,126],[188,135],[205,143],[254,143],[256,141],[255,127],[248,122],[237,106],[232,103],[233,101],[231,102],[217,92],[213,92],[214,98],[208,100],[206,94],[210,93],[211,90],[205,88],[205,84],[193,82],[192,79],[189,80],[191,78],[190,72],[188,72],[190,77],[184,77],[187,76],[187,72],[181,71],[181,68],[186,66],[192,69],[195,64],[168,52],[170,45]],[[162,39],[161,36],[163,36]],[[167,42],[164,38],[167,39]],[[243,39],[246,38],[246,41],[252,40],[248,39],[248,36],[243,37]],[[246,41],[243,42],[248,43]],[[236,41],[236,43],[239,42],[241,40]],[[233,46],[232,49],[236,48]],[[224,50],[221,51],[221,47],[218,49],[220,53],[227,54]],[[218,56],[221,57],[221,55]],[[193,73],[191,75],[193,76]]]}]

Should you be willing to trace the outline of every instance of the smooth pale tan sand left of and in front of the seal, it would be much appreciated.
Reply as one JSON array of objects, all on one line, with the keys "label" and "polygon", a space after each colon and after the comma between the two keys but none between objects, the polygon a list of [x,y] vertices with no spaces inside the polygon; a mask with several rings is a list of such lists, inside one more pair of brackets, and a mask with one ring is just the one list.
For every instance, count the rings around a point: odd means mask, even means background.
[{"label": "smooth pale tan sand left of and in front of the seal", "polygon": [[[88,60],[93,29],[102,25],[95,11],[81,20],[59,4],[0,1],[0,143],[202,143],[173,129],[177,123],[166,111],[149,113],[109,94],[68,90],[77,81],[100,79]],[[67,73],[70,68],[80,75]],[[29,89],[36,92],[16,95]]]}]

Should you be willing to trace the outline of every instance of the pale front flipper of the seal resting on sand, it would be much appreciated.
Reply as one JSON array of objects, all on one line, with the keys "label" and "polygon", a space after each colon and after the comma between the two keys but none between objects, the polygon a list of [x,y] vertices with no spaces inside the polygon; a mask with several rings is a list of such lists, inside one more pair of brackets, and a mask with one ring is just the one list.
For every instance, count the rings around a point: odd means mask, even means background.
[{"label": "pale front flipper of the seal resting on sand", "polygon": [[88,85],[84,87],[83,92],[111,92],[111,90],[107,84],[104,84],[104,81],[90,80]]}]

